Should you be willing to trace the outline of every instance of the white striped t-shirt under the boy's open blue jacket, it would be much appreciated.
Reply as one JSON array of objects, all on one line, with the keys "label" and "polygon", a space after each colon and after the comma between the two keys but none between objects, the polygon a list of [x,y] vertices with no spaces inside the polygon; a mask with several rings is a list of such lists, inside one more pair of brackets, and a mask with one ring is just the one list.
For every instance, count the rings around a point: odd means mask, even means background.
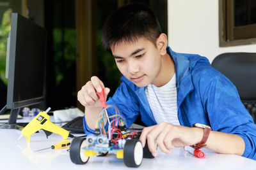
[{"label": "white striped t-shirt under the boy's open blue jacket", "polygon": [[180,125],[177,115],[175,74],[172,79],[162,87],[149,84],[145,88],[145,94],[157,124],[168,122],[173,125]]}]

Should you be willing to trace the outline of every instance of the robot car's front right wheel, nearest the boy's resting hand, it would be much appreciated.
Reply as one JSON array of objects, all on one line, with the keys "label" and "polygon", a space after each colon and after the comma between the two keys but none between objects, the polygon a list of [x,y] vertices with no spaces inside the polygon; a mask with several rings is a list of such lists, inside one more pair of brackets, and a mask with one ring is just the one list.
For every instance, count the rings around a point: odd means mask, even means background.
[{"label": "robot car's front right wheel, nearest the boy's resting hand", "polygon": [[143,159],[143,147],[139,139],[129,139],[124,145],[124,164],[127,167],[140,166]]}]

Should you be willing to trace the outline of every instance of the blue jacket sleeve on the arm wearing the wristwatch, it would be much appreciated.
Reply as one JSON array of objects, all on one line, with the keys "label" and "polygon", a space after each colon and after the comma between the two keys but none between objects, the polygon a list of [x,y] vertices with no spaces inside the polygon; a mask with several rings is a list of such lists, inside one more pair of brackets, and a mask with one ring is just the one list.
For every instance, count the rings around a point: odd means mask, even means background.
[{"label": "blue jacket sleeve on the arm wearing the wristwatch", "polygon": [[236,87],[218,71],[200,83],[204,86],[202,101],[212,130],[241,136],[245,143],[243,157],[256,160],[256,125],[244,108]]}]

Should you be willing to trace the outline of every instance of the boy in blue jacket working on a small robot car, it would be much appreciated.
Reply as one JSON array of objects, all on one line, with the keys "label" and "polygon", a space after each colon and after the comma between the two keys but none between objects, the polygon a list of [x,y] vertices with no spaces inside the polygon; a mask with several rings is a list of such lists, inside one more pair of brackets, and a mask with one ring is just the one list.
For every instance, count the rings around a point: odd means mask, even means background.
[{"label": "boy in blue jacket working on a small robot car", "polygon": [[[127,127],[141,116],[148,127],[140,141],[145,146],[147,140],[155,157],[157,143],[165,153],[193,145],[256,159],[256,126],[236,87],[205,57],[173,52],[146,6],[131,4],[116,10],[104,24],[102,42],[124,75],[107,104],[118,108]],[[100,85],[107,97],[109,89],[97,76],[77,94],[85,106],[86,134],[93,132],[102,110],[95,92],[101,91]]]}]

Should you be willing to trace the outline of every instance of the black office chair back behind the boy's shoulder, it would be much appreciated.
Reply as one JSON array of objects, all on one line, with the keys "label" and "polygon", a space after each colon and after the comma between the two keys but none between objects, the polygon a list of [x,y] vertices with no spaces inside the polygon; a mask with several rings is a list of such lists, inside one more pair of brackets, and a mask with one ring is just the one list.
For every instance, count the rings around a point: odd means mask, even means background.
[{"label": "black office chair back behind the boy's shoulder", "polygon": [[234,83],[242,103],[256,122],[256,53],[222,53],[211,65]]}]

